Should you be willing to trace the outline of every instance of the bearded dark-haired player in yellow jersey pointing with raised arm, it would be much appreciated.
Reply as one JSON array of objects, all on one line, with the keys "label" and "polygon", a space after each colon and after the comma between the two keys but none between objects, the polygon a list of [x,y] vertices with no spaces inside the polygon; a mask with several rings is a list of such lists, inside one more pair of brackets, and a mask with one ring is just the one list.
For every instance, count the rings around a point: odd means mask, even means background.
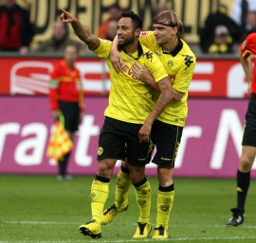
[{"label": "bearded dark-haired player in yellow jersey pointing with raised arm", "polygon": [[[87,26],[63,10],[61,19],[71,23],[77,36],[90,50],[107,61],[111,90],[98,148],[98,169],[91,187],[92,220],[80,231],[93,238],[101,237],[101,215],[108,198],[109,182],[117,160],[126,158],[131,181],[136,188],[140,215],[134,238],[145,238],[151,232],[151,185],[144,170],[148,163],[150,133],[155,118],[164,111],[174,93],[165,68],[157,56],[138,41],[142,21],[133,11],[122,14],[117,32],[122,57],[122,72],[117,73],[110,61],[112,42],[93,35]],[[132,65],[144,65],[153,76],[159,95],[153,102],[152,88],[138,80]]]}]

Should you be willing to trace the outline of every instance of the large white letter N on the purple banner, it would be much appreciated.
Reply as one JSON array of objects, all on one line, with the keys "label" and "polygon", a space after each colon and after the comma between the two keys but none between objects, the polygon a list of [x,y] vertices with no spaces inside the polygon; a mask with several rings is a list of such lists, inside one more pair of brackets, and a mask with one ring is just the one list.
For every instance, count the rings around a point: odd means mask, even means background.
[{"label": "large white letter N on the purple banner", "polygon": [[210,168],[221,169],[229,142],[229,134],[234,142],[237,154],[241,154],[243,125],[235,110],[224,109],[221,113],[214,148],[211,154]]}]

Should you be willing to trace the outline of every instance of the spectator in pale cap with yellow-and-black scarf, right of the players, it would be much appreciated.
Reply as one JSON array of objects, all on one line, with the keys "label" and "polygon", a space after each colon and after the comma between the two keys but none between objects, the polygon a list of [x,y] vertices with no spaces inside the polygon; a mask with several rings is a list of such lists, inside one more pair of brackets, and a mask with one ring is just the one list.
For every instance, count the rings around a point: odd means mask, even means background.
[{"label": "spectator in pale cap with yellow-and-black scarf, right of the players", "polygon": [[227,26],[216,26],[215,38],[213,43],[210,44],[208,52],[210,54],[227,54],[233,53],[233,42],[229,35]]}]

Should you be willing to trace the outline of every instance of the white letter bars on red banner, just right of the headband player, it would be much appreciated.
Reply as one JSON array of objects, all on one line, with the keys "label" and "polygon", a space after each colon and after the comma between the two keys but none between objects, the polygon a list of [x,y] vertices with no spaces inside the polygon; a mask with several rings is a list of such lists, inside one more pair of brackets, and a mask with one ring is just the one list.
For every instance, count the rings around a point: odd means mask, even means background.
[{"label": "white letter bars on red banner, just right of the headband player", "polygon": [[[214,72],[213,62],[198,62],[194,68],[194,74],[212,74]],[[211,80],[192,79],[189,91],[191,92],[211,92]]]}]

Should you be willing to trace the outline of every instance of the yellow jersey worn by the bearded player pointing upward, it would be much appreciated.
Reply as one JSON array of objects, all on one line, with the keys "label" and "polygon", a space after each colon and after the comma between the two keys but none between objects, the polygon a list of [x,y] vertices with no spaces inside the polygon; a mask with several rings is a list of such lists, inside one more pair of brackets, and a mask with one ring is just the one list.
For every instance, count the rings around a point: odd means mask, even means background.
[{"label": "yellow jersey worn by the bearded player pointing upward", "polygon": [[168,77],[162,62],[147,47],[138,43],[136,53],[120,51],[122,72],[117,73],[110,61],[112,42],[100,40],[100,46],[93,52],[106,60],[111,79],[109,103],[104,115],[124,122],[143,124],[155,106],[153,88],[138,80],[131,66],[135,61],[144,65],[155,78],[155,82],[158,82]]}]

